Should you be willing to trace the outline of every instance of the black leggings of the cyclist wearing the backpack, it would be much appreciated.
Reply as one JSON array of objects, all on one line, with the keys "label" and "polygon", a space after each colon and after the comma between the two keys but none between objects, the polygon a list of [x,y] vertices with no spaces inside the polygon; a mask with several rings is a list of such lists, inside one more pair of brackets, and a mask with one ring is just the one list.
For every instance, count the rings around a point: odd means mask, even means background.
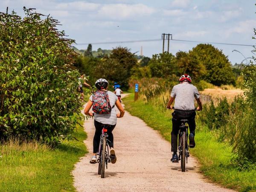
[{"label": "black leggings of the cyclist wearing the backpack", "polygon": [[[100,136],[102,134],[102,128],[103,126],[106,124],[102,124],[100,122],[97,122],[94,120],[94,126],[95,126],[95,134],[93,137],[93,153],[97,153],[98,148],[99,148],[99,142],[100,142]],[[107,134],[108,134],[108,140],[110,141],[110,143],[108,143],[109,147],[114,147],[114,137],[113,137],[113,129],[116,127],[116,125],[107,125],[106,129]]]}]

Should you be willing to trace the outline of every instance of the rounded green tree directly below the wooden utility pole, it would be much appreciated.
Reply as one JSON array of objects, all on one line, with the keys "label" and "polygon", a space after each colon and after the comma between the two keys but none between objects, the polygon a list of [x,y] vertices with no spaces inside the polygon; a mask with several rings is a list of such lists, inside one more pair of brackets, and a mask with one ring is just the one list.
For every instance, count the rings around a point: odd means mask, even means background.
[{"label": "rounded green tree directly below the wooden utility pole", "polygon": [[167,78],[179,74],[176,58],[168,52],[153,55],[148,62],[148,67],[151,69],[151,75],[155,77]]}]

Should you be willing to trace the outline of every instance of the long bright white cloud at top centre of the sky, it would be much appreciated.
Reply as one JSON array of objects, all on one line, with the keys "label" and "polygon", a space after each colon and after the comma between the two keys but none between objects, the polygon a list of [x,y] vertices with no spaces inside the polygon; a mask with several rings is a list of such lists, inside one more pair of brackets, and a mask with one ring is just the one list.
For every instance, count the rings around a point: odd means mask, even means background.
[{"label": "long bright white cloud at top centre of the sky", "polygon": [[98,14],[101,17],[109,17],[113,19],[125,19],[138,16],[147,16],[154,13],[155,10],[143,4],[106,4],[103,5]]}]

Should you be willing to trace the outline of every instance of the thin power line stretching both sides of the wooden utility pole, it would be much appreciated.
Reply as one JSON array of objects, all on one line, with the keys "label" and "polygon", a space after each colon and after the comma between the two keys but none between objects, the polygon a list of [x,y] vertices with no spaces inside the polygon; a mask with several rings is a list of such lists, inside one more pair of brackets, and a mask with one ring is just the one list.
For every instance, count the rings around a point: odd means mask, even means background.
[{"label": "thin power line stretching both sides of the wooden utility pole", "polygon": [[[95,43],[81,43],[81,44],[77,44],[77,45],[125,44],[125,43],[150,42],[150,41],[162,41],[162,39],[145,39],[145,40],[133,40],[133,41],[108,41],[108,42],[95,42]],[[190,43],[221,44],[221,45],[253,47],[253,45],[248,45],[248,44],[230,44],[230,43],[207,42],[207,41],[190,41],[190,40],[183,40],[183,39],[170,39],[170,41],[183,41],[183,42],[190,42]]]}]

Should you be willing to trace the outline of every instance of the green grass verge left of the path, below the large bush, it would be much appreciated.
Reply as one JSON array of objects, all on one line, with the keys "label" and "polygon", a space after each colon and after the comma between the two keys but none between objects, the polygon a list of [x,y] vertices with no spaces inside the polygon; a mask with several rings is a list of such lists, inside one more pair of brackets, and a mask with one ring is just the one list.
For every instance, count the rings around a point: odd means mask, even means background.
[{"label": "green grass verge left of the path, below the large bush", "polygon": [[0,145],[0,191],[75,191],[71,172],[87,153],[83,143],[87,136],[79,125],[75,137],[79,141],[64,141],[57,148],[17,140]]}]

